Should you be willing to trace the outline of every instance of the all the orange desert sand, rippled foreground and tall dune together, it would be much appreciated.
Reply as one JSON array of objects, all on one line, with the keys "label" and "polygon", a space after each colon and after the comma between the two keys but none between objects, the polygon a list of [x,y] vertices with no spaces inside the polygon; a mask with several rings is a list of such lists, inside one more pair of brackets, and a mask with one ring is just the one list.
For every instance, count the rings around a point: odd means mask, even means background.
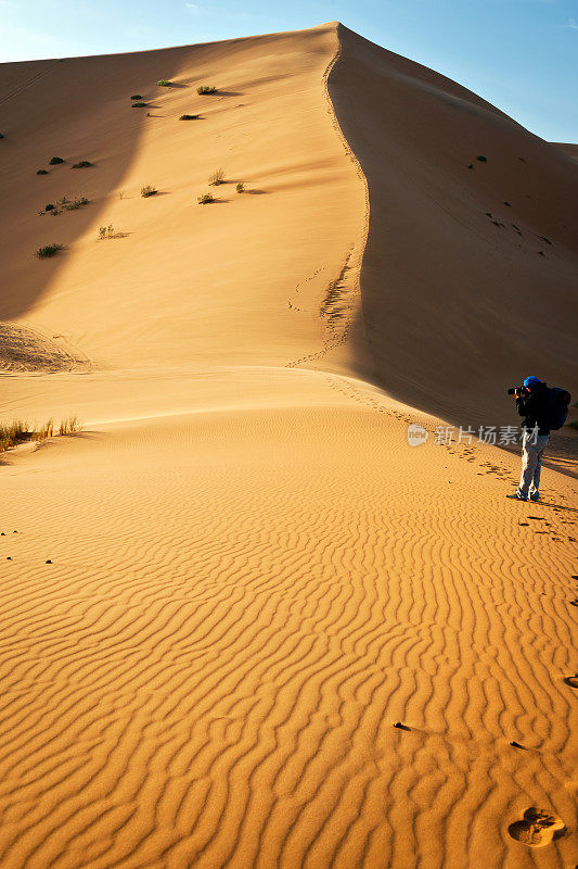
[{"label": "all the orange desert sand, rippled foreground and tall dune together", "polygon": [[574,866],[576,482],[435,442],[577,380],[573,160],[335,23],[0,89],[0,419],[84,420],[0,467],[2,869]]}]

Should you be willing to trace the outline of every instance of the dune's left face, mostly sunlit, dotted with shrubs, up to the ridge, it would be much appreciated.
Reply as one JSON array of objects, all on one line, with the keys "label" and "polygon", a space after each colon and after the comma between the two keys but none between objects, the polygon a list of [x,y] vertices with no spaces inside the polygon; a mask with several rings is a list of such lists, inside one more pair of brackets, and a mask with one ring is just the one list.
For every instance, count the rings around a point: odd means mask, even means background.
[{"label": "dune's left face, mostly sunlit, dotted with shrubs, up to the ridge", "polygon": [[[336,50],[324,25],[1,68],[0,317],[59,335],[95,367],[318,353],[332,337],[320,308],[364,210],[324,86]],[[198,96],[201,85],[218,92]],[[52,155],[66,162],[47,166]],[[72,169],[79,160],[94,165]],[[209,187],[219,167],[227,182]],[[157,194],[141,198],[144,185]],[[209,191],[216,202],[200,205]],[[62,196],[90,203],[37,214]],[[98,241],[101,225],[114,237]],[[51,242],[65,250],[35,260]]]}]

